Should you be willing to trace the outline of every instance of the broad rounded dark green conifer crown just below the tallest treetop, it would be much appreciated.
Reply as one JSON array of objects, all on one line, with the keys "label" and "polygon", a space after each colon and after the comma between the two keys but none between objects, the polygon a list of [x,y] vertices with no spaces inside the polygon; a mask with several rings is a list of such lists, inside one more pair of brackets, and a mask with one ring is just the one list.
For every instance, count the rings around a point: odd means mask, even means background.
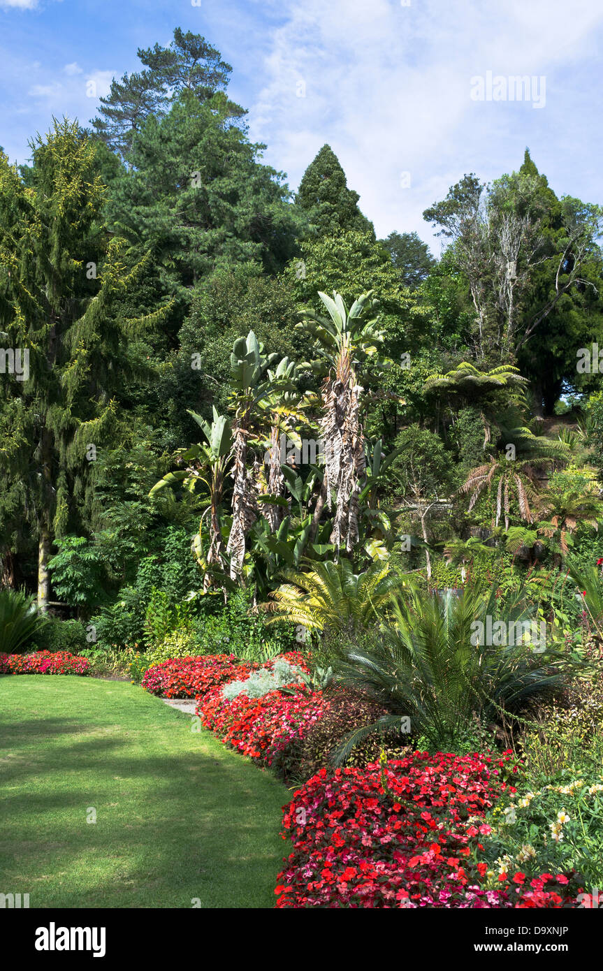
[{"label": "broad rounded dark green conifer crown just below the tallest treetop", "polygon": [[152,249],[167,292],[185,309],[218,266],[255,259],[285,265],[295,247],[283,175],[259,161],[265,146],[229,123],[231,102],[184,90],[134,140],[132,170],[112,184],[111,225],[141,253]]}]

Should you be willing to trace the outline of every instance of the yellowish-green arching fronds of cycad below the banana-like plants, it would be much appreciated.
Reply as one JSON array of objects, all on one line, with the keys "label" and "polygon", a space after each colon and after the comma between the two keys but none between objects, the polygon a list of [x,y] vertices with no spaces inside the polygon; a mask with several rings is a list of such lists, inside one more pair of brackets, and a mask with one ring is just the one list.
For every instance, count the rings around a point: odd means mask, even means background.
[{"label": "yellowish-green arching fronds of cycad below the banana-like plants", "polygon": [[378,561],[363,573],[354,574],[352,563],[312,562],[308,570],[285,570],[287,583],[273,590],[267,603],[267,623],[287,621],[308,630],[348,630],[375,622],[395,590],[409,586],[408,578]]}]

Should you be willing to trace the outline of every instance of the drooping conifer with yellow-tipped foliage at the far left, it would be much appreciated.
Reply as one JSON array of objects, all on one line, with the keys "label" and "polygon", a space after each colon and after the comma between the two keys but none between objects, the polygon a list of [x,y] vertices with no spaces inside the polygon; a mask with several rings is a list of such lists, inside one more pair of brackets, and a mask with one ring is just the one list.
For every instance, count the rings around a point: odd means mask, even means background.
[{"label": "drooping conifer with yellow-tipped foliage at the far left", "polygon": [[33,527],[46,610],[52,540],[68,531],[94,450],[117,425],[126,338],[143,326],[120,318],[119,299],[144,264],[127,270],[124,241],[101,222],[106,190],[78,124],[55,120],[31,148],[29,186],[0,157],[0,330],[20,364],[0,374],[0,473]]}]

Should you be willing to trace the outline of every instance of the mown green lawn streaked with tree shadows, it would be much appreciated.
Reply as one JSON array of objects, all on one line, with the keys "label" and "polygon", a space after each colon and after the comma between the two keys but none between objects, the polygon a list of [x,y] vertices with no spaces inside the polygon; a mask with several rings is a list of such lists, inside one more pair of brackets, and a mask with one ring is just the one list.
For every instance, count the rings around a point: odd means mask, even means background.
[{"label": "mown green lawn streaked with tree shadows", "polygon": [[0,678],[0,892],[32,908],[271,907],[289,798],[140,687]]}]

